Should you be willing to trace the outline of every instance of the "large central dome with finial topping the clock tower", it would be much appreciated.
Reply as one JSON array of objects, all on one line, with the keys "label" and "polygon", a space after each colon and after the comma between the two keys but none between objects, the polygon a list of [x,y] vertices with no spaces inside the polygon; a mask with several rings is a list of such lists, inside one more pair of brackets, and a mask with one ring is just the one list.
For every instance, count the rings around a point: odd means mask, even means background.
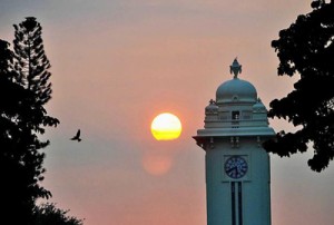
[{"label": "large central dome with finial topping the clock tower", "polygon": [[232,80],[223,82],[216,91],[216,102],[227,104],[227,102],[249,102],[255,104],[257,100],[257,92],[255,87],[237,76],[242,72],[242,65],[238,63],[237,59],[233,61],[230,66],[230,74],[234,74]]}]

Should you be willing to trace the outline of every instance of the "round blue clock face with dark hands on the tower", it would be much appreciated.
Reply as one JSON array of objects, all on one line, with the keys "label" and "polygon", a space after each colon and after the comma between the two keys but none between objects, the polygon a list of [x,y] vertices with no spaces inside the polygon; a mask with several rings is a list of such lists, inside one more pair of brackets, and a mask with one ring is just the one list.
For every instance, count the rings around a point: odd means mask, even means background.
[{"label": "round blue clock face with dark hands on the tower", "polygon": [[240,156],[232,156],[225,162],[225,173],[230,178],[242,178],[247,173],[247,162]]}]

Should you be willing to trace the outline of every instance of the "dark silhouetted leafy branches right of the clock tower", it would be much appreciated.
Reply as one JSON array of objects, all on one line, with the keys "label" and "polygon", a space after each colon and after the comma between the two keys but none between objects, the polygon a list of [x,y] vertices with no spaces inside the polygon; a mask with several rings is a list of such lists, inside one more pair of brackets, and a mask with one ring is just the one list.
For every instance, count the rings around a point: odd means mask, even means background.
[{"label": "dark silhouetted leafy branches right of the clock tower", "polygon": [[292,123],[295,133],[281,130],[264,143],[267,151],[291,156],[313,146],[311,169],[322,172],[334,157],[334,0],[312,2],[313,11],[301,14],[272,41],[277,51],[278,76],[299,75],[294,90],[269,104],[268,117]]}]

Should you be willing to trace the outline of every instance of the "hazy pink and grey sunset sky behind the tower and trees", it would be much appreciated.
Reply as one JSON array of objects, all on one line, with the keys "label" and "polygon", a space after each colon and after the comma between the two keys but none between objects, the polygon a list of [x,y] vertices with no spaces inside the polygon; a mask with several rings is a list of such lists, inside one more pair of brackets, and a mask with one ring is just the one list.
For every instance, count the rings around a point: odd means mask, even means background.
[{"label": "hazy pink and grey sunset sky behind the tower and trees", "polygon": [[[0,0],[0,39],[12,42],[12,25],[26,17],[43,28],[48,111],[60,120],[43,137],[50,200],[85,225],[205,225],[205,153],[191,138],[204,108],[232,78],[235,57],[267,108],[289,92],[293,80],[276,76],[271,41],[310,3]],[[180,118],[179,139],[153,138],[150,123],[164,111]],[[82,141],[69,140],[78,128]],[[333,225],[334,165],[312,172],[311,155],[272,156],[273,225]]]}]

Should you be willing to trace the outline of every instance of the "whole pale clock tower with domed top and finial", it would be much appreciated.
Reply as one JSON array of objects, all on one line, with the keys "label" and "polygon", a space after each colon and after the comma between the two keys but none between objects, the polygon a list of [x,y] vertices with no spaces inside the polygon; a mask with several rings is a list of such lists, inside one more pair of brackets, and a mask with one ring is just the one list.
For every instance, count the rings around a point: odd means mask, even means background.
[{"label": "whole pale clock tower with domed top and finial", "polygon": [[218,87],[194,137],[206,154],[207,225],[271,225],[271,165],[262,143],[275,131],[240,72],[235,59],[234,78]]}]

